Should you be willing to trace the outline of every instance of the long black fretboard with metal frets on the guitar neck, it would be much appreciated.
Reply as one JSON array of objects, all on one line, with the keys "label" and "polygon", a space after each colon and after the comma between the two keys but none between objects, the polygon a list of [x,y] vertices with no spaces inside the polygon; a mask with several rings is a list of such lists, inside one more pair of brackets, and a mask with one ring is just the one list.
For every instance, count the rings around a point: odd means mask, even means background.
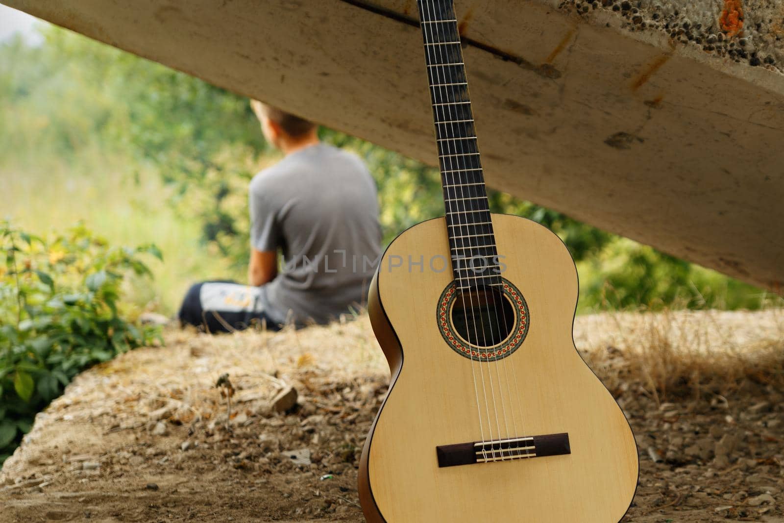
[{"label": "long black fretboard with metal frets on the guitar neck", "polygon": [[452,271],[460,289],[501,285],[466,67],[452,0],[418,0],[444,189]]}]

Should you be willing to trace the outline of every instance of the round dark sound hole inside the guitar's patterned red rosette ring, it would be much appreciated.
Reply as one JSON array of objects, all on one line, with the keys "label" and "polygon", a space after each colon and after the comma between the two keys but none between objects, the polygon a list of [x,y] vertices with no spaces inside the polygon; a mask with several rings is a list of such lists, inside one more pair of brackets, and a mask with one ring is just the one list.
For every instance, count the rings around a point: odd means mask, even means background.
[{"label": "round dark sound hole inside the guitar's patterned red rosette ring", "polygon": [[459,291],[452,305],[452,326],[475,347],[494,347],[514,329],[514,307],[492,287]]}]

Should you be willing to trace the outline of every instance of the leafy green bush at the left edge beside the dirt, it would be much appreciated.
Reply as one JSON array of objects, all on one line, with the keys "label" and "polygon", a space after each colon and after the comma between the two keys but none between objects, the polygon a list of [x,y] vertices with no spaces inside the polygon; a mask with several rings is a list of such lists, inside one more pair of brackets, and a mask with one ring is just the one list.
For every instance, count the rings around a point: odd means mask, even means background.
[{"label": "leafy green bush at the left edge beside the dirt", "polygon": [[0,464],[78,372],[160,340],[120,310],[125,274],[150,274],[142,254],[161,258],[82,226],[45,242],[0,222]]}]

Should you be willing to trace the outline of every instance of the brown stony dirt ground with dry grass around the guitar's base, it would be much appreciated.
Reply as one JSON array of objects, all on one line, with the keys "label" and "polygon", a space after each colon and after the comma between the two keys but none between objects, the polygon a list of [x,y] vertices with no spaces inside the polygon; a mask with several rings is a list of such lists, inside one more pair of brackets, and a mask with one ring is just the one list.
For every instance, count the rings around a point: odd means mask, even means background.
[{"label": "brown stony dirt ground with dry grass around the guitar's base", "polygon": [[[38,416],[0,473],[0,521],[362,520],[358,459],[388,383],[365,316],[166,340]],[[784,522],[784,311],[586,316],[575,343],[637,437],[624,521]]]}]

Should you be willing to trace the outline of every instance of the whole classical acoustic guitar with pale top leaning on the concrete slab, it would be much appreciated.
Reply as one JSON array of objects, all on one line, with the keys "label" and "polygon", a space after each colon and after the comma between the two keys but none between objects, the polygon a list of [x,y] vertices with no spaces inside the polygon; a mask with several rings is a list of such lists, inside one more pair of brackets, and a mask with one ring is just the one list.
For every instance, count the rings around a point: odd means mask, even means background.
[{"label": "whole classical acoustic guitar with pale top leaning on the concrete slab", "polygon": [[368,298],[392,380],[359,470],[368,521],[615,523],[637,447],[572,340],[574,261],[491,213],[452,0],[419,0],[445,217],[400,234]]}]

